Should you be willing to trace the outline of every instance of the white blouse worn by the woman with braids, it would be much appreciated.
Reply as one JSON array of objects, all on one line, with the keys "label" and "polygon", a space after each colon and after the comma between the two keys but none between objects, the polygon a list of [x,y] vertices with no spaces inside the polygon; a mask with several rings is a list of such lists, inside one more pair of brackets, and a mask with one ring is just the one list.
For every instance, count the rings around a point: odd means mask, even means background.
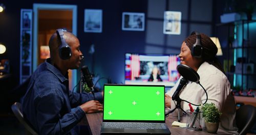
[{"label": "white blouse worn by the woman with braids", "polygon": [[[207,103],[214,103],[222,112],[220,128],[224,130],[237,131],[234,118],[236,116],[236,104],[232,94],[230,93],[230,83],[219,69],[214,65],[204,62],[200,65],[197,73],[200,76],[200,84],[206,89],[208,100]],[[182,76],[180,77],[180,79]],[[170,89],[166,94],[173,96],[176,88],[180,82],[180,79],[174,87]],[[193,104],[203,104],[206,100],[206,94],[203,88],[196,82],[188,81],[187,85],[180,92],[180,98],[191,102]],[[192,105],[193,106],[193,105]],[[171,109],[175,108],[174,100],[171,102]],[[181,108],[184,110],[189,109],[187,102],[181,102]],[[196,108],[196,106],[193,106]],[[178,109],[172,114],[178,115]],[[182,110],[180,110],[182,112]]]}]

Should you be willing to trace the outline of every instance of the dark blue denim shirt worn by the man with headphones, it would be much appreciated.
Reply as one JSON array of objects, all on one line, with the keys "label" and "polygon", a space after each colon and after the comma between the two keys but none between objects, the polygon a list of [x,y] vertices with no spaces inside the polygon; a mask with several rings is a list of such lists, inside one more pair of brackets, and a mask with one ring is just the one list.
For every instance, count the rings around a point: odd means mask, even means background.
[{"label": "dark blue denim shirt worn by the man with headphones", "polygon": [[[80,104],[93,100],[88,93],[69,91],[69,80],[50,64],[40,64],[32,74],[22,100],[25,119],[39,134],[77,134],[75,125],[85,116]],[[100,100],[100,93],[95,93]]]}]

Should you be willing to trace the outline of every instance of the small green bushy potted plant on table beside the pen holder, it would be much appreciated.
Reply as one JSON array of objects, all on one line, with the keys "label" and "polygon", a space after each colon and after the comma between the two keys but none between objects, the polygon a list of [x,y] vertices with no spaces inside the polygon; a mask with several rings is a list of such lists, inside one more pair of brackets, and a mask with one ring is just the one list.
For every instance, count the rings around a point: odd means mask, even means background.
[{"label": "small green bushy potted plant on table beside the pen holder", "polygon": [[214,103],[206,103],[202,109],[206,130],[210,133],[216,133],[219,128],[221,112]]}]

